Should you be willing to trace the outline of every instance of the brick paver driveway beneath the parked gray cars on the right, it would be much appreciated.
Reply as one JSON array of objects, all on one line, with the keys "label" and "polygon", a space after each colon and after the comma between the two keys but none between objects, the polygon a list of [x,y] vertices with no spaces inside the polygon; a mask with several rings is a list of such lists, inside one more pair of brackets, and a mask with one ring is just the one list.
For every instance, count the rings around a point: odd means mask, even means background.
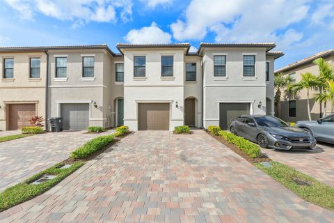
[{"label": "brick paver driveway beneath the parked gray cars on the right", "polygon": [[271,159],[294,167],[334,187],[334,145],[317,144],[314,151],[276,151],[263,149]]}]

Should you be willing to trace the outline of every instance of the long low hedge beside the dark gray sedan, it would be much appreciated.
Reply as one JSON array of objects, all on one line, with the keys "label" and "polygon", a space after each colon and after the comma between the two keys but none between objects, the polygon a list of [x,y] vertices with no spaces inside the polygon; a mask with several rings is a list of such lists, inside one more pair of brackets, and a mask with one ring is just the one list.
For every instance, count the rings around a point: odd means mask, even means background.
[{"label": "long low hedge beside the dark gray sedan", "polygon": [[260,147],[248,141],[247,139],[244,139],[243,137],[238,137],[231,132],[223,130],[219,131],[218,134],[221,135],[221,137],[223,137],[223,139],[226,141],[238,146],[241,151],[244,151],[251,158],[255,158],[261,155]]}]

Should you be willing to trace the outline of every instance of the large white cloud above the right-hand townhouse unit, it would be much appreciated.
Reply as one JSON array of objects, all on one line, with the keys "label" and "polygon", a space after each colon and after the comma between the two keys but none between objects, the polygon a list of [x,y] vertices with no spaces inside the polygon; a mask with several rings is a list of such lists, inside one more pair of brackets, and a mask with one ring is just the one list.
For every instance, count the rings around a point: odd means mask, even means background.
[{"label": "large white cloud above the right-hand townhouse unit", "polygon": [[276,32],[303,20],[308,10],[308,0],[193,0],[185,19],[170,27],[177,40],[202,40],[212,31],[216,42],[296,41],[296,32]]}]

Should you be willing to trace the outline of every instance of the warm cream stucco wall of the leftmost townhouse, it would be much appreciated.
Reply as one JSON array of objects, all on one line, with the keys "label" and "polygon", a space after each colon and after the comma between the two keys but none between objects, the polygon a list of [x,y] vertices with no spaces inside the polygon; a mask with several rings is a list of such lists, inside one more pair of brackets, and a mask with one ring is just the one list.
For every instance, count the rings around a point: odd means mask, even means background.
[{"label": "warm cream stucco wall of the leftmost townhouse", "polygon": [[[40,57],[40,78],[29,78],[29,59]],[[3,79],[3,59],[14,59],[14,78]],[[44,52],[0,54],[0,130],[8,128],[6,104],[36,104],[36,115],[45,117],[45,77],[47,56]]]}]

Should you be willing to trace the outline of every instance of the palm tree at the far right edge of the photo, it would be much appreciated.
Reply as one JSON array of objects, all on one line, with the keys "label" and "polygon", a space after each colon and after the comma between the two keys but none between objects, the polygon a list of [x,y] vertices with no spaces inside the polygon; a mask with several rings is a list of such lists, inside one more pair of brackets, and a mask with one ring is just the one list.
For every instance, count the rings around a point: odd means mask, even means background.
[{"label": "palm tree at the far right edge of the photo", "polygon": [[319,76],[317,77],[319,81],[319,86],[317,89],[319,90],[319,93],[315,94],[315,100],[320,102],[320,105],[322,102],[324,102],[324,116],[326,116],[327,112],[327,102],[330,100],[330,97],[328,95],[328,80],[334,79],[334,68],[331,66],[330,63],[328,63],[323,58],[318,58],[313,61],[313,63],[317,64],[319,68]]}]

